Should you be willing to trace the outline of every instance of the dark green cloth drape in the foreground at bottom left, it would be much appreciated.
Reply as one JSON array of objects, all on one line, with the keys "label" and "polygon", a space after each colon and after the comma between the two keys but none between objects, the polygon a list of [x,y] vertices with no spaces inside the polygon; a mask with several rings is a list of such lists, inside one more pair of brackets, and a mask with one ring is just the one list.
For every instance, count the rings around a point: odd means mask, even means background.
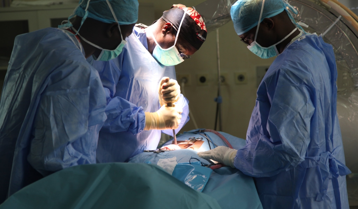
[{"label": "dark green cloth drape in the foreground at bottom left", "polygon": [[10,196],[0,209],[202,208],[217,201],[156,165],[101,163],[49,175]]}]

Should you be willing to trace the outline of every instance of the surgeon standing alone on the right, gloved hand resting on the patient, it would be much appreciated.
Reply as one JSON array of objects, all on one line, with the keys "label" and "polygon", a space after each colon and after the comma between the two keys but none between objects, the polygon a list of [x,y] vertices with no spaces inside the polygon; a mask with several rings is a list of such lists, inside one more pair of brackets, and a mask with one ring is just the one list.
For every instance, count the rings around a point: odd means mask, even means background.
[{"label": "surgeon standing alone on the right, gloved hand resting on the patient", "polygon": [[232,6],[248,49],[277,58],[258,87],[246,146],[198,155],[255,177],[264,209],[349,209],[333,47],[305,33],[287,8],[297,12],[282,0]]}]

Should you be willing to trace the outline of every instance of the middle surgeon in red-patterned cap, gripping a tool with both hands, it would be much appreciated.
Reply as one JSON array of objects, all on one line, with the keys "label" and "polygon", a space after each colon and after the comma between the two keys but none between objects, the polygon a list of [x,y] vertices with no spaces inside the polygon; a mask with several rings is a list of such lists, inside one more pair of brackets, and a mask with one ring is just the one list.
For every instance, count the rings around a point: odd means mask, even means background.
[{"label": "middle surgeon in red-patterned cap, gripping a tool with both hands", "polygon": [[[178,133],[188,122],[188,100],[180,94],[174,65],[194,54],[206,35],[197,11],[173,5],[153,25],[134,27],[115,60],[87,59],[99,71],[107,97],[107,120],[99,135],[97,162],[126,162],[145,149],[155,149],[162,132],[173,136],[171,129]],[[153,117],[161,112],[160,118],[168,102],[173,102],[178,112],[167,114],[173,120],[156,123]],[[180,112],[181,119],[175,115]]]}]

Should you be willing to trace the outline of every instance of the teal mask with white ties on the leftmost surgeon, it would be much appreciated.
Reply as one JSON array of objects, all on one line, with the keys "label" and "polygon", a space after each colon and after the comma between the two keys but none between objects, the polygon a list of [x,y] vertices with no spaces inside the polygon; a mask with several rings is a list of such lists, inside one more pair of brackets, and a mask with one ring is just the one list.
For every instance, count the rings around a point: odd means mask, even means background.
[{"label": "teal mask with white ties on the leftmost surgeon", "polygon": [[[88,0],[88,2],[87,2],[86,14],[87,14],[87,9],[88,9],[89,1],[90,1],[90,0]],[[116,21],[116,23],[118,23],[117,17],[116,17],[116,15],[114,14],[114,11],[113,11],[113,9],[112,9],[111,4],[109,3],[108,0],[106,0],[106,1],[107,1],[107,4],[108,4],[108,7],[109,7],[110,10],[111,10],[111,13],[112,13],[112,15],[113,15],[114,20]],[[76,7],[76,9],[77,9],[77,7]],[[75,9],[74,11],[76,11],[76,9]],[[72,15],[71,15],[71,16],[72,16]],[[71,16],[70,16],[70,18],[71,18]],[[68,18],[68,19],[70,19],[70,18]],[[85,15],[85,16],[82,18],[81,26],[82,26],[82,24],[83,24],[83,22],[84,22],[84,20],[85,20],[86,18],[87,18],[87,15]],[[64,25],[64,27],[66,27],[66,26],[71,27],[72,24],[71,24],[70,22],[68,22],[67,24]],[[79,27],[79,29],[81,29],[81,26]],[[121,34],[122,41],[121,41],[121,43],[117,46],[117,48],[116,48],[116,49],[113,49],[113,50],[103,49],[102,47],[97,46],[96,44],[87,41],[85,38],[83,38],[83,37],[78,33],[78,32],[79,32],[79,29],[78,29],[78,31],[77,31],[76,29],[74,29],[74,28],[72,27],[72,30],[73,30],[74,32],[76,32],[75,35],[78,34],[79,37],[81,37],[83,41],[85,41],[85,42],[87,42],[88,44],[90,44],[90,45],[92,45],[92,46],[94,46],[94,47],[96,47],[96,48],[102,50],[101,53],[100,53],[100,56],[98,56],[97,58],[96,58],[94,55],[92,55],[93,58],[94,58],[96,61],[110,61],[110,60],[113,60],[114,58],[118,57],[118,55],[122,52],[123,47],[124,47],[124,46],[126,45],[126,43],[127,43],[127,41],[123,38],[123,35],[122,35],[122,32],[121,32],[121,27],[120,27],[119,24],[118,24],[118,29],[119,29],[119,33]]]}]

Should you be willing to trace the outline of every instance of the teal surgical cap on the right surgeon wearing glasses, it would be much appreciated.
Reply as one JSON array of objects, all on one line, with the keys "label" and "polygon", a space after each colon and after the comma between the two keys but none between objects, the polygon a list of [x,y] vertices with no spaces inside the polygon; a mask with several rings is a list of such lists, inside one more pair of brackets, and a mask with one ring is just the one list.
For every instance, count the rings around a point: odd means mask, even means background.
[{"label": "teal surgical cap on the right surgeon wearing glasses", "polygon": [[[256,25],[258,25],[261,7],[262,0],[238,0],[234,5],[232,5],[230,10],[231,19],[234,23],[234,28],[238,35],[246,33]],[[287,10],[287,7],[289,7],[291,11],[297,14],[297,10],[294,9],[286,1],[266,0],[265,5],[263,6],[261,22],[265,18],[271,18],[286,10],[292,22],[296,24],[295,20],[292,17],[292,14]],[[301,26],[299,26],[298,24],[296,25],[297,27],[302,29]]]}]

